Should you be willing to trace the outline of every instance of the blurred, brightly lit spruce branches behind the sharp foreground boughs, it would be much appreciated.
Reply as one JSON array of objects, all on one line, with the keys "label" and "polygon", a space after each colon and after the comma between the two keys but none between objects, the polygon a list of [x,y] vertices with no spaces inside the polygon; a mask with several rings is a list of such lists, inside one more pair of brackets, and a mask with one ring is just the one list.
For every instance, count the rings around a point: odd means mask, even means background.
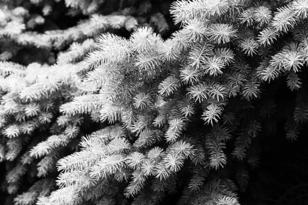
[{"label": "blurred, brightly lit spruce branches behind the sharp foreground boughs", "polygon": [[139,3],[0,2],[0,198],[6,204],[35,204],[57,189],[57,161],[79,151],[82,136],[106,126],[82,61],[101,33],[127,36],[144,26],[169,32],[164,10]]}]

